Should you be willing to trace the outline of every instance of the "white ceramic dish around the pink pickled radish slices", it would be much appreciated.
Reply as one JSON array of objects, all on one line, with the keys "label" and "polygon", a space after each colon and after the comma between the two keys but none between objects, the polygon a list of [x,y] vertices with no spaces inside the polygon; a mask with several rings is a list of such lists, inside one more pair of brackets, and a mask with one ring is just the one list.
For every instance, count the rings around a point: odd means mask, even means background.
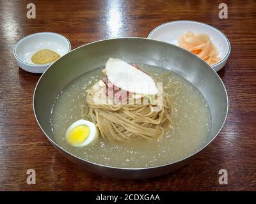
[{"label": "white ceramic dish around the pink pickled radish slices", "polygon": [[219,57],[222,59],[220,62],[213,64],[212,68],[215,71],[219,71],[221,68],[223,68],[223,66],[225,66],[230,54],[230,42],[225,34],[211,25],[190,20],[177,20],[159,25],[153,31],[151,31],[148,38],[166,41],[173,45],[179,45],[179,36],[187,31],[209,34],[212,42],[219,52]]}]

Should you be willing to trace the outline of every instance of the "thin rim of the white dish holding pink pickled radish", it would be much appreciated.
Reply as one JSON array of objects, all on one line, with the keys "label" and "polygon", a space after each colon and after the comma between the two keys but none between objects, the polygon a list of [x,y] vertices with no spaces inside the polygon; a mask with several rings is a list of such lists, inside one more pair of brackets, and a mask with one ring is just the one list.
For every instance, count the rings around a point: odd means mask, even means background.
[{"label": "thin rim of the white dish holding pink pickled radish", "polygon": [[[223,32],[221,32],[219,29],[217,29],[216,27],[213,27],[212,25],[209,25],[209,24],[205,24],[203,22],[199,22],[199,21],[195,21],[195,20],[173,20],[173,21],[170,21],[170,22],[166,22],[164,24],[161,24],[161,25],[158,25],[157,27],[155,27],[147,36],[148,39],[152,39],[151,36],[152,34],[157,30],[157,29],[160,29],[161,27],[164,27],[165,25],[168,25],[168,24],[177,24],[177,23],[180,23],[180,22],[187,22],[187,23],[195,23],[195,24],[202,24],[206,27],[210,27],[211,29],[214,29],[215,31],[217,31],[218,33],[221,34],[221,36],[223,36],[224,40],[227,41],[227,44],[228,44],[228,50],[227,50],[227,53],[225,55],[225,57],[223,57],[223,59],[221,59],[221,61],[219,62],[216,62],[215,64],[212,64],[210,65],[212,69],[216,69],[217,66],[219,66],[222,62],[225,62],[225,60],[228,58],[228,56],[230,55],[230,51],[231,51],[231,45],[230,45],[230,41],[228,40],[227,36],[225,36],[225,34]],[[156,40],[156,39],[152,39],[152,40]],[[168,42],[166,42],[168,43]],[[170,43],[172,44],[172,43]],[[172,44],[173,45],[173,44]],[[177,46],[177,45],[176,45]],[[192,53],[193,54],[193,53]],[[195,55],[195,54],[194,54]],[[198,56],[196,56],[198,57]]]}]

